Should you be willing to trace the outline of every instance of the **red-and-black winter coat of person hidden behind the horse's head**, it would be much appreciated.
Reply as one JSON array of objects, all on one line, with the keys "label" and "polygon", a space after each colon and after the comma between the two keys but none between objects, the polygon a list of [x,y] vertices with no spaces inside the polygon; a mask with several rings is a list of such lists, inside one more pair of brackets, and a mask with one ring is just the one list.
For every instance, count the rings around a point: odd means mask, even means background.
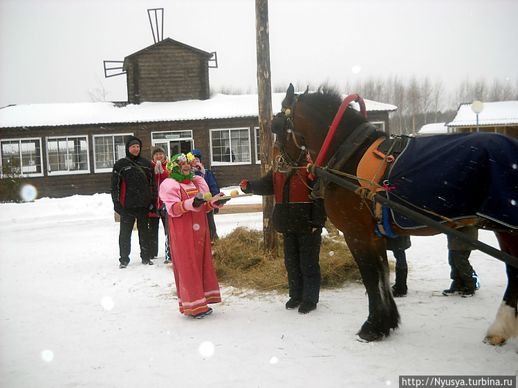
[{"label": "red-and-black winter coat of person hidden behind the horse's head", "polygon": [[280,233],[313,233],[326,222],[324,200],[309,196],[313,184],[306,169],[293,169],[288,173],[268,171],[260,180],[248,182],[245,193],[275,195],[273,227]]}]

